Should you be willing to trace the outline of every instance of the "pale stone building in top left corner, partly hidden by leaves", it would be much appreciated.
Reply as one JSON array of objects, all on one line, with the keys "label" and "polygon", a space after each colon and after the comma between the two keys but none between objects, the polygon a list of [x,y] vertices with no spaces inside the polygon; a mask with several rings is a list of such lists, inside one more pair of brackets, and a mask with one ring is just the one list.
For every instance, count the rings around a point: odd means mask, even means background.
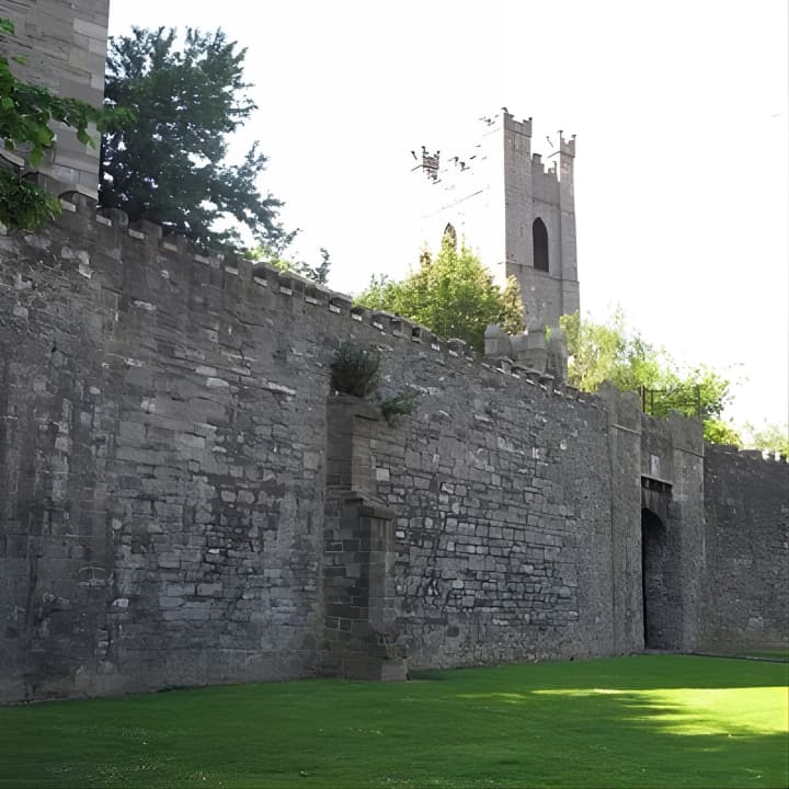
[{"label": "pale stone building in top left corner, partly hidden by leaves", "polygon": [[[11,54],[27,62],[14,65],[18,77],[62,96],[101,106],[104,99],[110,0],[0,0],[0,16],[14,23],[9,37]],[[55,146],[38,170],[57,182],[57,188],[75,190],[95,198],[99,187],[99,135],[90,130],[96,147],[77,139],[75,132],[56,124]]]}]

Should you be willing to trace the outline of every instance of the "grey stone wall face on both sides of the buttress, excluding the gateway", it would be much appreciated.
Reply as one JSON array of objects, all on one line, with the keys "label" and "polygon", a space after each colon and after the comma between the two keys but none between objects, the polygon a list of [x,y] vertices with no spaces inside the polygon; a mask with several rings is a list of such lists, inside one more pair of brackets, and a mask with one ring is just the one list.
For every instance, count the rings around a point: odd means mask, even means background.
[{"label": "grey stone wall face on both sides of the buttress, excluding the gateway", "polygon": [[347,336],[424,392],[367,439],[411,664],[611,651],[598,401],[90,214],[0,239],[4,698],[316,671]]}]

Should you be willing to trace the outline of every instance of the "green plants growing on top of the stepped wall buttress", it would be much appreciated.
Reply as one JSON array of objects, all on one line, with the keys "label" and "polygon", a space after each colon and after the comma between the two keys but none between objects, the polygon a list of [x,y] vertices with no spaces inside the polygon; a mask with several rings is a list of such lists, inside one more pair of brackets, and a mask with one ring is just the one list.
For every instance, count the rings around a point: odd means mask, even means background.
[{"label": "green plants growing on top of the stepped wall buttress", "polygon": [[408,415],[416,409],[418,392],[408,389],[386,399],[378,392],[380,353],[376,348],[359,345],[353,340],[344,341],[334,352],[330,365],[331,386],[334,391],[368,400],[376,396],[380,402],[381,415],[388,425],[398,416]]}]

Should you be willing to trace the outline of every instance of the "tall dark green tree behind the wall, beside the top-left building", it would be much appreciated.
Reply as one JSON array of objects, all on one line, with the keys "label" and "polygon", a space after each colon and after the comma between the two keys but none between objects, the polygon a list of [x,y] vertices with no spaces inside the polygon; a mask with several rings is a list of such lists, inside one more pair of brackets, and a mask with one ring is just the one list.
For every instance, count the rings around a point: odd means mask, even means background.
[{"label": "tall dark green tree behind the wall, beside the top-left building", "polygon": [[282,239],[282,203],[256,185],[266,163],[258,145],[241,164],[224,161],[227,135],[256,108],[244,93],[244,55],[221,30],[187,28],[182,50],[173,28],[110,39],[105,101],[132,107],[136,121],[102,139],[102,206],[204,247],[238,245],[237,229],[217,227],[229,219],[263,242]]}]

